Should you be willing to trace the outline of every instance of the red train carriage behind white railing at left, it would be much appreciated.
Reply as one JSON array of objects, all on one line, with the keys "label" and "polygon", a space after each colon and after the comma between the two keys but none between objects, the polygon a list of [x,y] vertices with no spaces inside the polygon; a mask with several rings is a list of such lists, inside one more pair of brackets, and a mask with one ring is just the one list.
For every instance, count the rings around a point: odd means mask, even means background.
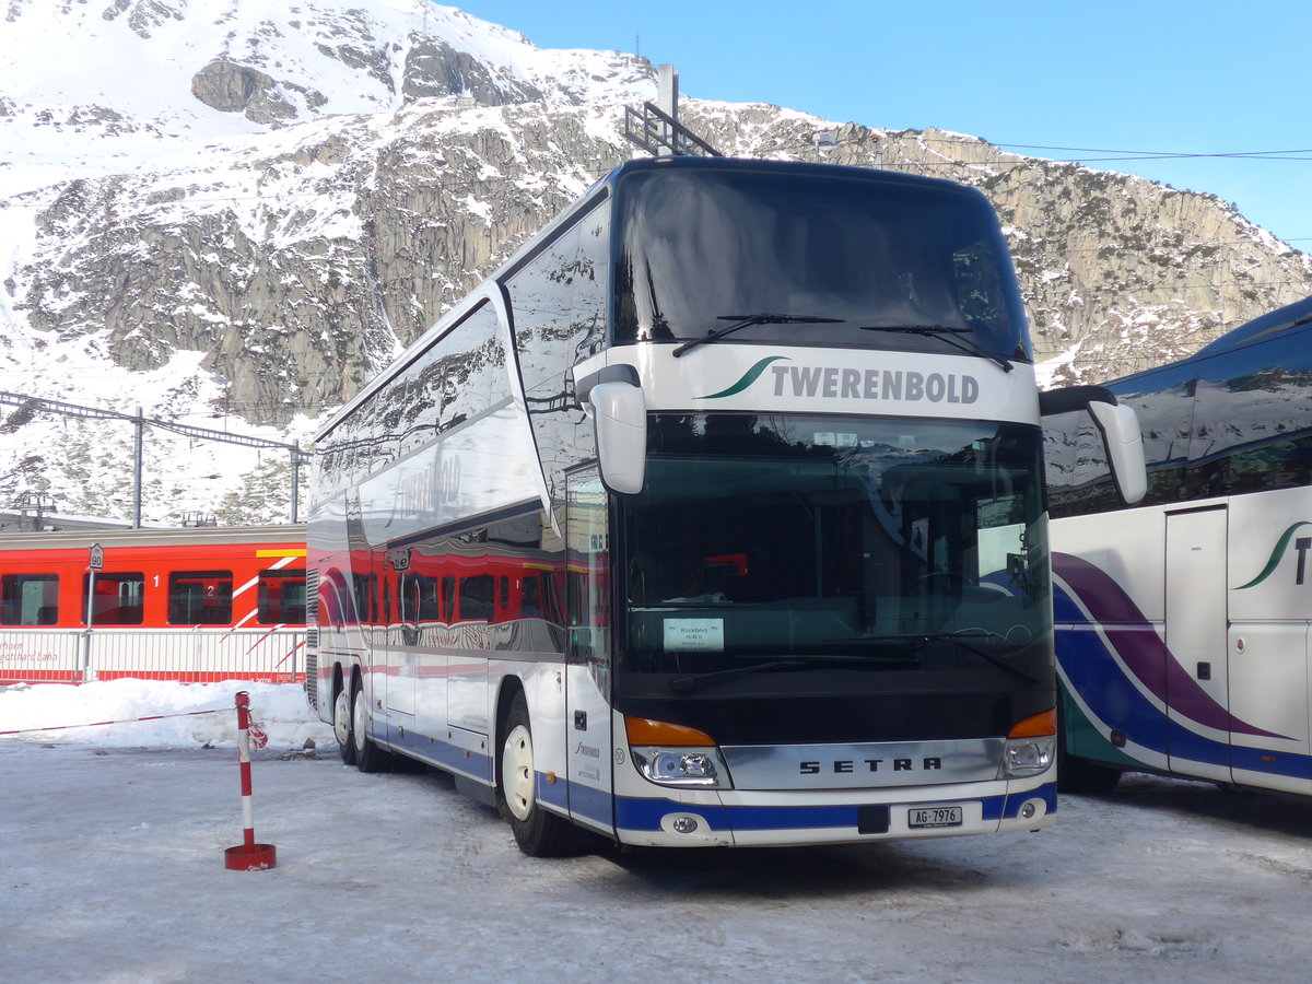
[{"label": "red train carriage behind white railing at left", "polygon": [[304,526],[0,534],[0,684],[297,682],[304,622]]}]

